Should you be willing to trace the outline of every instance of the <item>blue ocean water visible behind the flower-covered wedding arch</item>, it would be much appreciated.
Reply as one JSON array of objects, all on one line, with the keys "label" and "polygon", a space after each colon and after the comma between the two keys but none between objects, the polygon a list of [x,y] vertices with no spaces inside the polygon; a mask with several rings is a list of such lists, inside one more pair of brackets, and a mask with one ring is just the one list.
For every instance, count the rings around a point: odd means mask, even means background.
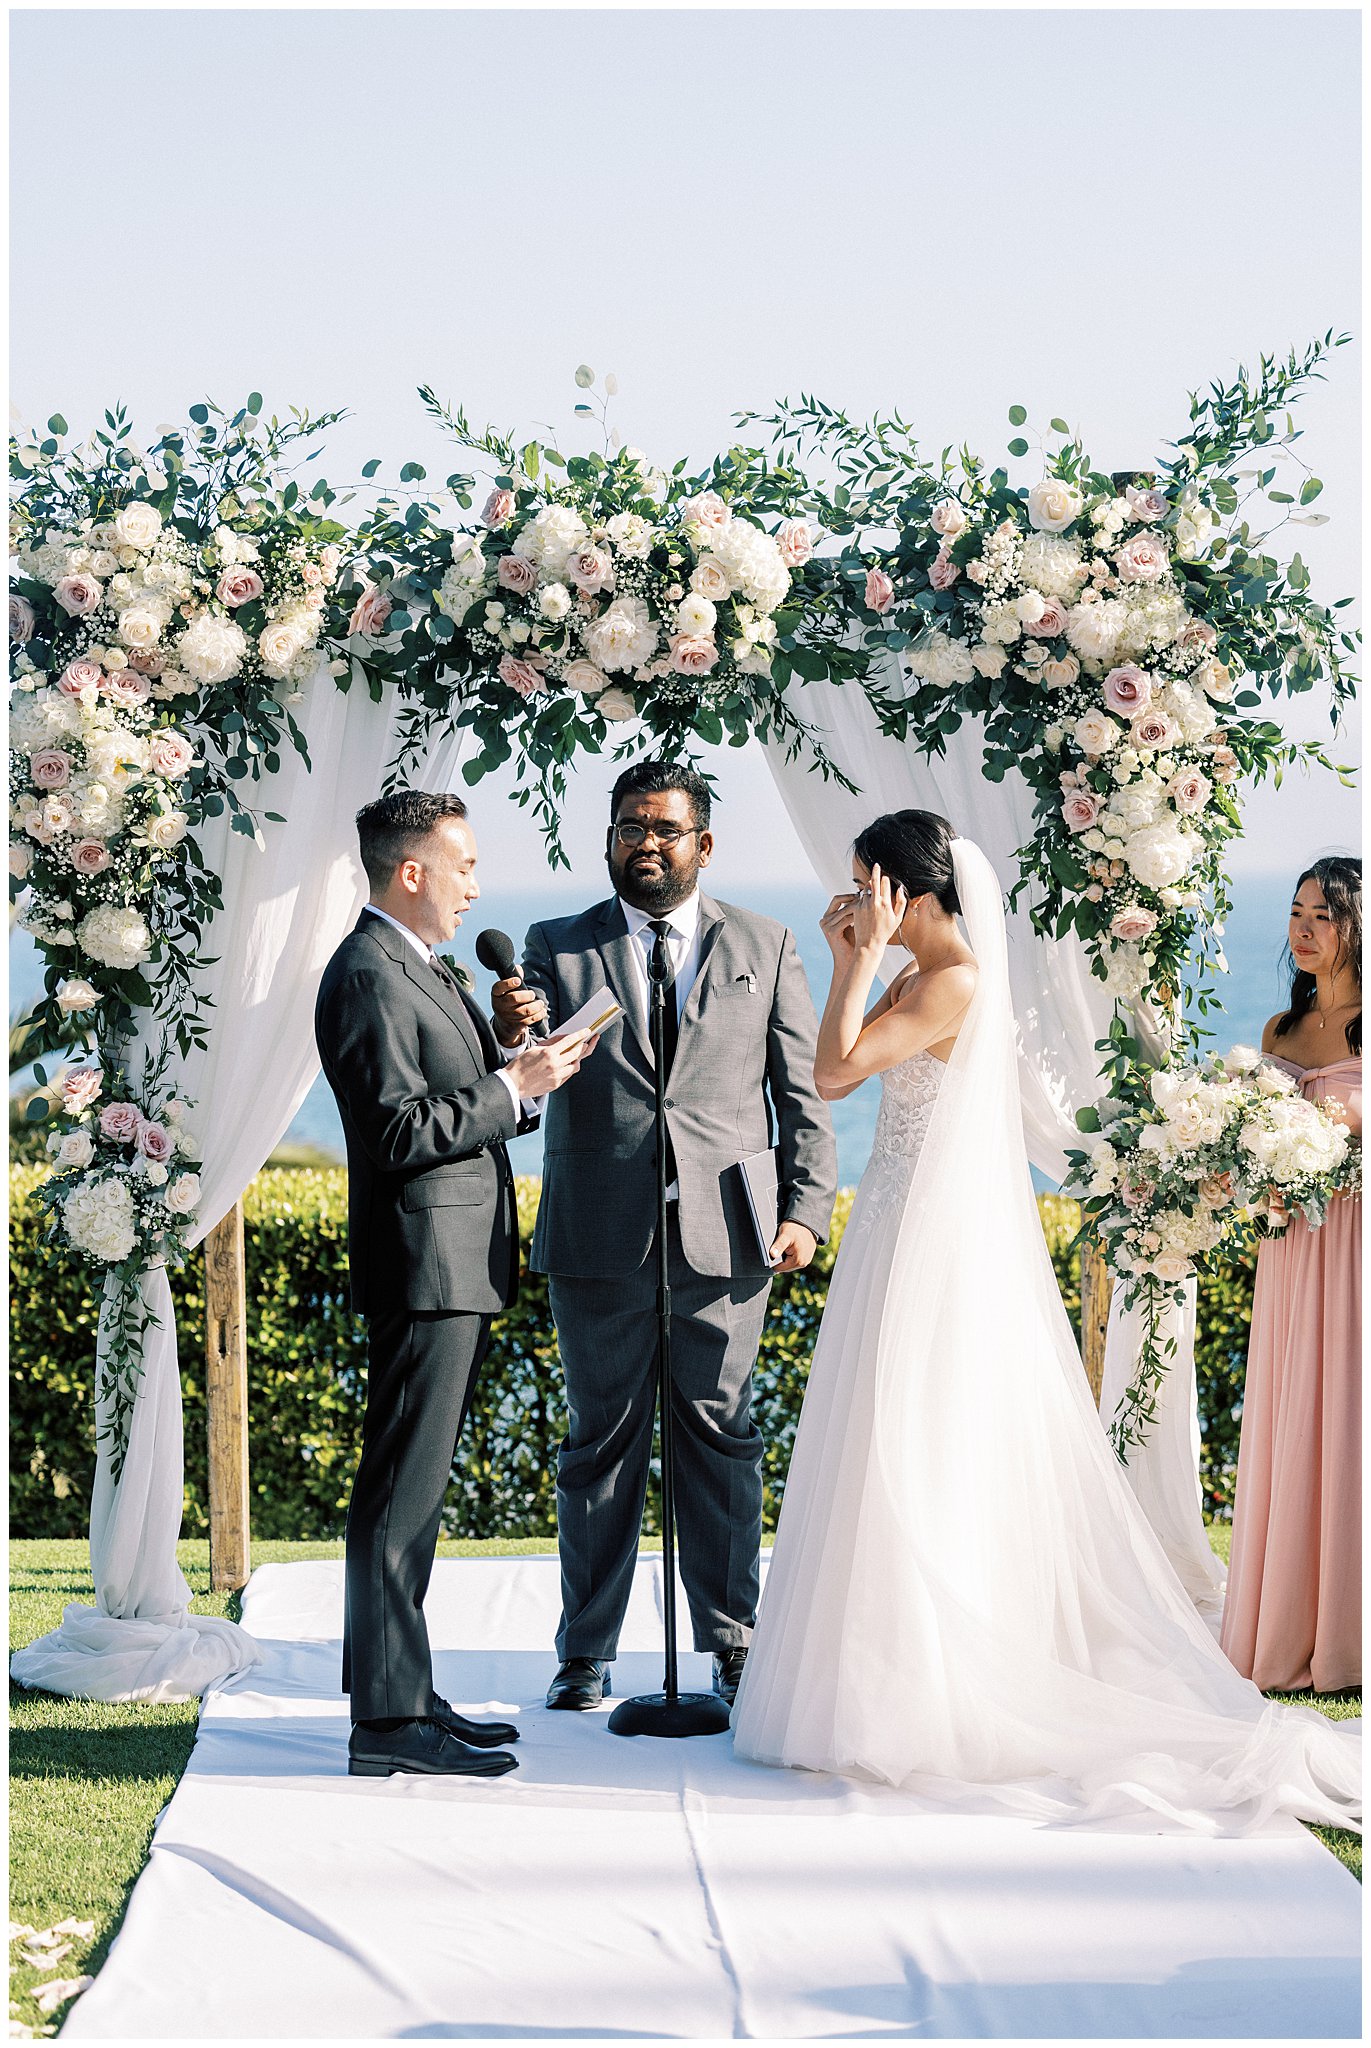
[{"label": "blue ocean water visible behind the flower-covered wedding arch", "polygon": [[[1223,950],[1230,963],[1230,973],[1221,983],[1223,1016],[1209,1018],[1209,1028],[1215,1032],[1213,1042],[1223,1051],[1230,1044],[1256,1044],[1262,1024],[1283,1004],[1285,983],[1279,961],[1285,946],[1291,881],[1293,874],[1285,872],[1256,874],[1246,877],[1234,891],[1234,911],[1223,936]],[[721,895],[732,901],[746,901],[750,909],[764,911],[768,918],[789,924],[795,932],[816,1010],[820,1010],[828,993],[832,967],[832,954],[818,928],[820,913],[828,903],[826,891],[818,883],[797,883],[791,889],[760,889],[746,897],[740,891],[728,889]],[[594,899],[594,895],[586,897],[586,901]],[[559,918],[578,907],[580,899],[566,891],[535,895],[525,891],[504,893],[498,887],[490,887],[473,911],[471,924],[463,926],[451,950],[471,967],[477,987],[486,991],[492,977],[475,965],[473,942],[477,930],[498,926],[521,946],[525,930],[537,918]],[[20,1014],[41,993],[41,967],[33,942],[27,934],[14,932],[10,938],[10,1016]],[[842,1186],[853,1186],[861,1180],[867,1153],[871,1151],[877,1102],[879,1081],[871,1079],[853,1096],[846,1096],[846,1100],[830,1104],[838,1141],[838,1180]],[[342,1159],[342,1124],[322,1075],[305,1096],[289,1137],[318,1145]],[[541,1133],[514,1139],[510,1161],[516,1174],[541,1171]],[[1039,1180],[1039,1186],[1045,1188],[1049,1184]]]}]

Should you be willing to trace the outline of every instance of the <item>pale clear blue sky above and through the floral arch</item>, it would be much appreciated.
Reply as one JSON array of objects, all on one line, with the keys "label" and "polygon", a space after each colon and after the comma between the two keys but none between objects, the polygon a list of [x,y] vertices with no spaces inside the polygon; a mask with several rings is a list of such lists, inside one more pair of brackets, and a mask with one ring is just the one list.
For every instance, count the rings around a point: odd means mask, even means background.
[{"label": "pale clear blue sky above and through the floral arch", "polygon": [[[1191,385],[1357,326],[1359,76],[1332,10],[23,12],[12,399],[82,432],[113,397],[346,403],[338,481],[453,467],[420,381],[576,446],[588,360],[660,461],[805,389],[988,453],[1019,401],[1125,467]],[[1357,590],[1357,379],[1342,350],[1301,414],[1326,596]],[[756,750],[719,768],[746,899],[803,856]],[[572,795],[580,891],[609,780]],[[527,817],[475,803],[488,887],[531,885]],[[1324,780],[1248,815],[1238,868],[1357,840]]]}]

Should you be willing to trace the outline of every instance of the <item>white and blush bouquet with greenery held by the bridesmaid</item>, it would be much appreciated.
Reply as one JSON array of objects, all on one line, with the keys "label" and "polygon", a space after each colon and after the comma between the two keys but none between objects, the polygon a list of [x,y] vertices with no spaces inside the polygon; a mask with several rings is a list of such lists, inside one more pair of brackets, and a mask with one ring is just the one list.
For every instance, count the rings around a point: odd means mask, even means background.
[{"label": "white and blush bouquet with greenery held by the bridesmaid", "polygon": [[1322,1102],[1252,1047],[1199,1065],[1135,1069],[1123,1092],[1078,1122],[1090,1151],[1070,1155],[1068,1186],[1123,1282],[1144,1305],[1139,1366],[1113,1421],[1119,1456],[1146,1436],[1180,1305],[1201,1260],[1277,1235],[1297,1210],[1318,1225],[1334,1194],[1361,1186],[1361,1147]]}]

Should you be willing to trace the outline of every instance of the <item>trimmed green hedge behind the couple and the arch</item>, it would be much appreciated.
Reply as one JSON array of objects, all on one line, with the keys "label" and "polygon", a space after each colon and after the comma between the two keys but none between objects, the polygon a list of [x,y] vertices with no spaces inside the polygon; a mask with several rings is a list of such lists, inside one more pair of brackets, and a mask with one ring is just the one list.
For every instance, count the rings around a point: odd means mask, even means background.
[{"label": "trimmed green hedge behind the couple and the arch", "polygon": [[[39,1219],[25,1200],[37,1174],[10,1171],[10,1513],[16,1536],[80,1536],[94,1466],[90,1364],[94,1305],[86,1270],[53,1268],[39,1251]],[[518,1182],[525,1243],[539,1184]],[[766,1528],[775,1528],[795,1442],[814,1333],[850,1194],[838,1198],[834,1239],[803,1274],[777,1278],[756,1370],[756,1415],[766,1442]],[[1072,1319],[1080,1260],[1066,1247],[1078,1210],[1039,1202]],[[342,1534],[365,1409],[363,1323],[346,1307],[346,1176],[264,1171],[244,1196],[248,1239],[248,1370],[252,1532],[299,1540]],[[1201,1407],[1209,1505],[1232,1503],[1250,1270],[1230,1268],[1201,1298]],[[186,1411],[184,1534],[207,1528],[205,1290],[201,1260],[172,1276]],[[551,1536],[555,1454],[564,1432],[557,1346],[547,1282],[525,1274],[516,1307],[496,1321],[445,1513],[449,1536]],[[967,1485],[975,1473],[967,1470]],[[652,1507],[650,1507],[652,1522]]]}]

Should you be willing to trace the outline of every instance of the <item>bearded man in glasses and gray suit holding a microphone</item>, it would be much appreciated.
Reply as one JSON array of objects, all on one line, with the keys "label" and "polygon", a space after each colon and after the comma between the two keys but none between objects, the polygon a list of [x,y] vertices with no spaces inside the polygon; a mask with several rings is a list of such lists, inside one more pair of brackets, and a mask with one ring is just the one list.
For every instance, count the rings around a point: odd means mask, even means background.
[{"label": "bearded man in glasses and gray suit holding a microphone", "polygon": [[[535,924],[523,983],[494,991],[506,1047],[555,1030],[609,987],[625,1016],[545,1112],[531,1266],[549,1276],[570,1427],[557,1458],[562,1667],[555,1708],[611,1690],[652,1456],[656,1395],[656,1110],[648,963],[666,956],[668,1253],[680,1577],[697,1651],[732,1702],[758,1597],[762,1438],[752,1366],[771,1272],[807,1266],[836,1192],[818,1022],[793,934],[699,889],[709,784],[639,762],[619,776],[607,842],[615,895]],[[545,1010],[543,1010],[545,1006]],[[736,1163],[779,1147],[779,1229],[762,1260]]]}]

